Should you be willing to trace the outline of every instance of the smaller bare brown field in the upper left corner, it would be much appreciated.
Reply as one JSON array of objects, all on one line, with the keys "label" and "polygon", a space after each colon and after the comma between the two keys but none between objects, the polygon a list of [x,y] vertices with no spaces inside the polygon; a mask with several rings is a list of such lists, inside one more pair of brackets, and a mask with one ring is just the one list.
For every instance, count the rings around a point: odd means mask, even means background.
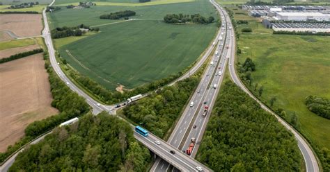
[{"label": "smaller bare brown field in the upper left corner", "polygon": [[41,35],[42,20],[40,14],[4,14],[0,15],[0,30],[7,30],[19,37]]}]

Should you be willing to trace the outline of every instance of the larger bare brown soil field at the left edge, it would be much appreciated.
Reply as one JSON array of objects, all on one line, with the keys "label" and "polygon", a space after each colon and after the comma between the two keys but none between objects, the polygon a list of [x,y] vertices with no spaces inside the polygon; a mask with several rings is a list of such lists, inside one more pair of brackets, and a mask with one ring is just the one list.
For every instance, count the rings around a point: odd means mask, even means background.
[{"label": "larger bare brown soil field at the left edge", "polygon": [[15,144],[26,126],[58,113],[42,53],[0,64],[0,152]]}]

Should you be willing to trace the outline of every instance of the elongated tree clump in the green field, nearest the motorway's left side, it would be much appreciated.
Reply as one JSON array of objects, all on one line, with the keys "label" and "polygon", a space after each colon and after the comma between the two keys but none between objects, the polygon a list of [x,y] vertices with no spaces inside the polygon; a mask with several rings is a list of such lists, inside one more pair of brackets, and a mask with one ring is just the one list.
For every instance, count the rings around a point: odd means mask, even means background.
[{"label": "elongated tree clump in the green field, nearest the motorway's left side", "polygon": [[195,23],[195,24],[210,24],[214,21],[214,17],[210,16],[205,18],[200,14],[195,15],[182,15],[181,13],[166,15],[164,17],[164,22],[168,24],[185,24],[185,23]]}]

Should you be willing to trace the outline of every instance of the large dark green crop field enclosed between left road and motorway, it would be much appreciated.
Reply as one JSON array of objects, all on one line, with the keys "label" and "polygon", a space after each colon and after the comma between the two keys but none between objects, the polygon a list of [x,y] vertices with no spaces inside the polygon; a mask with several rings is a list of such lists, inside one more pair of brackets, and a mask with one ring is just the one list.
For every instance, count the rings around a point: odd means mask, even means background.
[{"label": "large dark green crop field enclosed between left road and motorway", "polygon": [[[134,10],[134,20],[99,19],[101,14]],[[49,15],[52,28],[88,24],[100,33],[56,47],[63,58],[81,74],[109,89],[120,85],[131,89],[176,74],[191,65],[217,31],[217,24],[173,25],[162,22],[169,13],[205,17],[217,13],[208,1],[171,3],[157,6],[93,6],[90,9],[58,10]],[[68,15],[70,17],[63,17]],[[116,22],[116,23],[115,23]],[[63,44],[64,42],[64,44]]]}]

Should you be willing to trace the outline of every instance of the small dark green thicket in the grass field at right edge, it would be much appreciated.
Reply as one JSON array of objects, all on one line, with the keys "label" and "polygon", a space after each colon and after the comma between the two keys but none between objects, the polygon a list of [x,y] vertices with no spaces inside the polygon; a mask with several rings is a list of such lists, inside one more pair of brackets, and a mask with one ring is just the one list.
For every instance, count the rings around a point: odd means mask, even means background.
[{"label": "small dark green thicket in the grass field at right edge", "polygon": [[305,104],[311,112],[326,119],[330,119],[330,101],[327,98],[307,96]]}]

